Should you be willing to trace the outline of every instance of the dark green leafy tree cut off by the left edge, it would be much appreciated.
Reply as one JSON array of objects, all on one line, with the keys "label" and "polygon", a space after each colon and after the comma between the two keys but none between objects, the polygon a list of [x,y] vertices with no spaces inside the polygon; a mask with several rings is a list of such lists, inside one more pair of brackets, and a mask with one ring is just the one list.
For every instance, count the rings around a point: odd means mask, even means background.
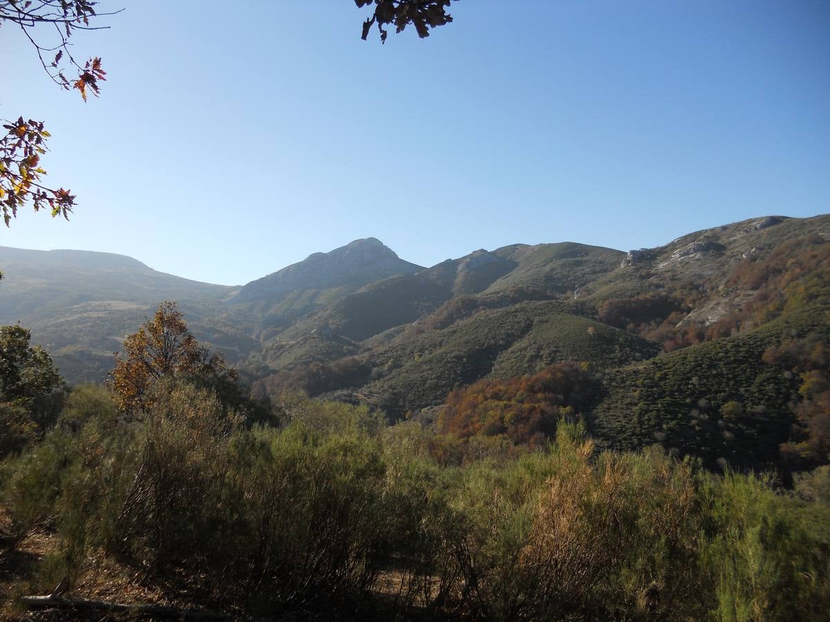
[{"label": "dark green leafy tree cut off by the left edge", "polygon": [[0,456],[31,442],[56,419],[66,389],[51,357],[22,326],[0,328]]}]

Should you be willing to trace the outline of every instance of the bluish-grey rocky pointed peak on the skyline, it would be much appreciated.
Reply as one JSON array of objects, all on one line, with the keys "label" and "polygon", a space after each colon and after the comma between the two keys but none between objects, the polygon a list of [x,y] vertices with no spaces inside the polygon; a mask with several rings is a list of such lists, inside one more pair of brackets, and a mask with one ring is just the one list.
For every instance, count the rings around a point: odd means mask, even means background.
[{"label": "bluish-grey rocky pointed peak on the skyline", "polygon": [[277,301],[297,290],[359,286],[393,275],[423,270],[396,255],[374,237],[355,240],[329,253],[314,253],[299,263],[251,281],[232,302]]}]

